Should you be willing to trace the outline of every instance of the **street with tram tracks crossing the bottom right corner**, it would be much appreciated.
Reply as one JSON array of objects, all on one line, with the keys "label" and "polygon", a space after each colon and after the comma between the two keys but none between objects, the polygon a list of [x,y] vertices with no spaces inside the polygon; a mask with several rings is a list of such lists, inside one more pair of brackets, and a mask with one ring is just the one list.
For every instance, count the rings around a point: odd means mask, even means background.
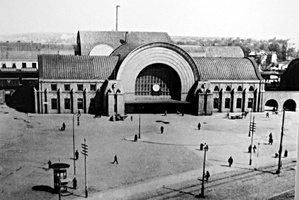
[{"label": "street with tram tracks crossing the bottom right corner", "polygon": [[[275,173],[277,166],[263,166],[256,170],[242,169],[216,174],[205,182],[205,199],[294,199],[296,162],[285,162],[283,172]],[[151,193],[139,194],[134,199],[198,199],[201,181],[190,180],[180,184],[165,186]]]}]

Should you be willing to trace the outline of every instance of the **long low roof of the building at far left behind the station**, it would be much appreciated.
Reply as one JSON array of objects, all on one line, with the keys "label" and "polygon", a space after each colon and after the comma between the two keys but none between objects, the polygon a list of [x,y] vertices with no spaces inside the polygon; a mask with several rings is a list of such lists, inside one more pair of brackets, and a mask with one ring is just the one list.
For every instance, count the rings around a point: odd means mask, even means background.
[{"label": "long low roof of the building at far left behind the station", "polygon": [[74,55],[75,46],[70,44],[42,44],[33,42],[0,43],[0,59],[35,59],[38,54]]}]

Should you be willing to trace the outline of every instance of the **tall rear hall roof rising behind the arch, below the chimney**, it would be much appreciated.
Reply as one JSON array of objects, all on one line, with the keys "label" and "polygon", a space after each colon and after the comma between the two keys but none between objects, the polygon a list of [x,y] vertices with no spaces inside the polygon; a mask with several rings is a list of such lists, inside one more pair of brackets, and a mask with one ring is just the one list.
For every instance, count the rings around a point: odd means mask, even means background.
[{"label": "tall rear hall roof rising behind the arch, below the chimney", "polygon": [[79,31],[77,35],[81,55],[88,55],[99,44],[116,49],[122,44],[121,40],[134,46],[151,42],[171,42],[171,38],[165,32]]}]

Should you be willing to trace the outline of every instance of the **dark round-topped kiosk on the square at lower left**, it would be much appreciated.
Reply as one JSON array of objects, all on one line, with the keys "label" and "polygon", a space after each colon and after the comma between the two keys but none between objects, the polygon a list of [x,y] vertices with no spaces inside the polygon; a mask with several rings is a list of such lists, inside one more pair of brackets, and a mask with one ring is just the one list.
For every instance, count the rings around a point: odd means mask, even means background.
[{"label": "dark round-topped kiosk on the square at lower left", "polygon": [[[67,168],[70,165],[66,163],[54,163],[51,168],[54,170],[54,190],[59,192],[59,184],[61,192],[67,192],[67,185],[71,181],[67,178]],[[59,183],[60,182],[60,183]]]}]

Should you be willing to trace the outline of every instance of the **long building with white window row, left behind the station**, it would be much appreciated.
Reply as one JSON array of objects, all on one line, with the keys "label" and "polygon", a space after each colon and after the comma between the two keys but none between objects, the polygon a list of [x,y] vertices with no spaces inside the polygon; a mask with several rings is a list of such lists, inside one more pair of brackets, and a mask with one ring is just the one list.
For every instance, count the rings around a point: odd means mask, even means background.
[{"label": "long building with white window row, left behind the station", "polygon": [[0,89],[10,95],[18,86],[38,82],[39,54],[74,55],[75,46],[23,42],[0,43]]}]

